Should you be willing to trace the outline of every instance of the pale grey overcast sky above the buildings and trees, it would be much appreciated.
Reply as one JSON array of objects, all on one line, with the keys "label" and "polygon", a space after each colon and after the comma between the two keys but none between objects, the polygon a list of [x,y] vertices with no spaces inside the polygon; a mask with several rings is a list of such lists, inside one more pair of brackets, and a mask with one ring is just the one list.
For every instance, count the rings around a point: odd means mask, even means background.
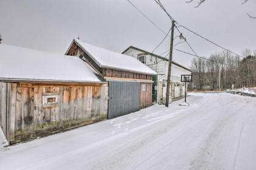
[{"label": "pale grey overcast sky above the buildings and trees", "polygon": [[[168,32],[171,22],[153,0],[130,0]],[[179,24],[186,25],[212,41],[241,53],[246,47],[256,50],[256,1],[208,0],[195,9],[186,0],[162,0],[166,10]],[[194,0],[196,1],[196,0]],[[197,55],[209,56],[218,47],[186,30],[183,35]],[[177,30],[175,30],[177,35]],[[3,43],[53,53],[65,53],[73,38],[115,52],[133,45],[152,51],[165,36],[135,10],[127,0],[0,0],[0,33]],[[174,44],[179,42],[176,38]],[[169,48],[169,39],[158,48],[160,54]],[[183,43],[177,49],[191,52]],[[192,52],[191,52],[192,53]],[[190,66],[193,56],[174,52],[174,61]]]}]

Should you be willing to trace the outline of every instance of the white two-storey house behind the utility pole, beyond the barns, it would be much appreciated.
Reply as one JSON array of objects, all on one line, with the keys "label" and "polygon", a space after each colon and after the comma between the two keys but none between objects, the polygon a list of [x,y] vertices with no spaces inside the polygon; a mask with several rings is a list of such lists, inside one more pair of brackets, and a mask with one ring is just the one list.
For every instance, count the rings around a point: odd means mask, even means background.
[{"label": "white two-storey house behind the utility pole, beyond the barns", "polygon": [[[152,99],[159,104],[165,103],[169,64],[168,58],[155,55],[154,53],[133,46],[128,47],[123,53],[137,58],[141,63],[146,64],[146,66],[157,72],[157,75],[153,77],[154,87]],[[185,84],[180,82],[180,77],[181,75],[190,75],[191,73],[192,71],[190,69],[172,61],[169,101],[185,95]]]}]

